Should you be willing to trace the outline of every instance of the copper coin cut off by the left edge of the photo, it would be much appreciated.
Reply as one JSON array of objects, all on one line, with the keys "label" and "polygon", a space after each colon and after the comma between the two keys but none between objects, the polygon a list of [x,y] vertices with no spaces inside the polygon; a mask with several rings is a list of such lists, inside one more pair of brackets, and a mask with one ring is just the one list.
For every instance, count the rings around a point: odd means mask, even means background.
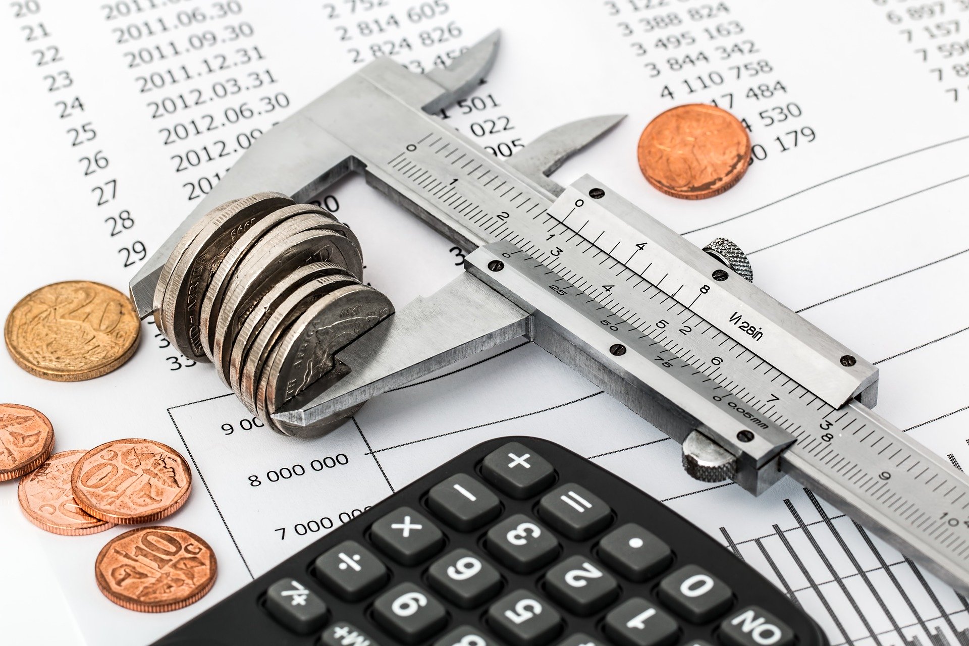
[{"label": "copper coin cut off by the left edge of the photo", "polygon": [[0,404],[0,482],[29,474],[54,447],[47,415],[29,406]]}]

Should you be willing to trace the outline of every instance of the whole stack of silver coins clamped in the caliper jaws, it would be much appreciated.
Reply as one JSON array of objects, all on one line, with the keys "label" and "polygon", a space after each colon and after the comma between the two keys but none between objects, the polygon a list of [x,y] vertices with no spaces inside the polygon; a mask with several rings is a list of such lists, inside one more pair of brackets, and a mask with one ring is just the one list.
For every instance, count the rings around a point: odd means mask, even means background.
[{"label": "whole stack of silver coins clamped in the caliper jaws", "polygon": [[182,354],[211,361],[266,426],[318,437],[357,409],[309,427],[272,414],[309,385],[331,384],[341,374],[333,355],[393,313],[362,275],[357,236],[326,209],[257,193],[185,233],[162,269],[155,323]]}]

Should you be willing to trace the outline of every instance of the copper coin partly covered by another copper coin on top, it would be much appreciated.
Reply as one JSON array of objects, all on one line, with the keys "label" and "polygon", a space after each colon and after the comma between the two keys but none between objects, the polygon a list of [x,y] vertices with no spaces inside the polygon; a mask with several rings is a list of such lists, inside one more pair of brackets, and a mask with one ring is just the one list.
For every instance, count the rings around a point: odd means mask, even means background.
[{"label": "copper coin partly covered by another copper coin on top", "polygon": [[86,513],[74,500],[71,472],[84,453],[54,453],[36,471],[20,478],[16,497],[27,520],[42,530],[68,537],[97,534],[114,527]]}]

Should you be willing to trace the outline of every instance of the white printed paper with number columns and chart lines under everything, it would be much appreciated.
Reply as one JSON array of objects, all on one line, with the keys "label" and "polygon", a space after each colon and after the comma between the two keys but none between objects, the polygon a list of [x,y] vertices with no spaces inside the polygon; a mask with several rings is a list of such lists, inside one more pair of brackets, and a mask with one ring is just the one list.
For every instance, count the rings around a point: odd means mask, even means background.
[{"label": "white printed paper with number columns and chart lines under everything", "polygon": [[[273,122],[376,56],[429,70],[501,28],[492,74],[441,118],[507,157],[564,122],[627,113],[555,179],[588,172],[697,244],[734,240],[762,289],[878,364],[881,415],[969,464],[966,0],[37,0],[0,11],[2,312],[58,280],[126,290]],[[649,119],[693,102],[743,117],[756,158],[734,189],[698,202],[651,189],[635,154]],[[398,307],[460,271],[451,242],[358,177],[324,200],[357,231],[366,280]],[[758,499],[690,479],[662,429],[523,340],[457,367],[307,442],[254,428],[212,368],[149,323],[135,357],[91,382],[44,382],[4,354],[0,400],[44,411],[57,450],[134,436],[190,459],[191,499],[164,522],[212,545],[219,578],[176,612],[112,605],[92,566],[122,530],[47,535],[5,483],[5,544],[41,545],[52,578],[3,581],[3,614],[62,593],[91,646],[147,643],[465,448],[524,434],[698,523],[832,645],[969,643],[965,599],[790,478]]]}]

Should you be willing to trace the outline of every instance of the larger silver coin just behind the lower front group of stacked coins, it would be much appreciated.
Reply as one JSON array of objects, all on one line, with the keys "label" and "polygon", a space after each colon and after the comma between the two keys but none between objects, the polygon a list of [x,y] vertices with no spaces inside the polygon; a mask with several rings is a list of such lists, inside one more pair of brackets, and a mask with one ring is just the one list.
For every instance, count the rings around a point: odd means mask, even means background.
[{"label": "larger silver coin just behind the lower front group of stacked coins", "polygon": [[246,315],[273,285],[297,267],[316,261],[329,261],[359,278],[363,270],[359,259],[353,242],[330,230],[328,222],[316,214],[293,216],[266,233],[231,274],[215,322],[212,356],[223,366],[223,375],[228,361],[224,349],[233,347]]}]

